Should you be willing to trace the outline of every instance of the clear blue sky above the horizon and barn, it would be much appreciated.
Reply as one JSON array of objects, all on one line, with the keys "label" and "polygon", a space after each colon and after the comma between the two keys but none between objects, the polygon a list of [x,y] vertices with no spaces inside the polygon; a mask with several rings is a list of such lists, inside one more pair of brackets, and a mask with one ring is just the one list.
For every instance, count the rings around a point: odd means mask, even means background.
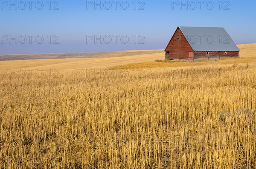
[{"label": "clear blue sky above the horizon and barn", "polygon": [[236,44],[256,42],[255,0],[0,0],[0,5],[1,55],[164,49],[177,26],[224,27]]}]

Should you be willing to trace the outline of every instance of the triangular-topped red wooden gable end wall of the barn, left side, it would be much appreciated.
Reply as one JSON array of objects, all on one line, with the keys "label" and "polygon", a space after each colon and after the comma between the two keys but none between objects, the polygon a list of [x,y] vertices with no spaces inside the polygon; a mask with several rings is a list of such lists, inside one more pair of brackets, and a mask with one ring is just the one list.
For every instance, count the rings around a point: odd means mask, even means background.
[{"label": "triangular-topped red wooden gable end wall of the barn, left side", "polygon": [[[188,59],[189,52],[193,52],[189,42],[179,28],[175,31],[165,51],[169,51],[170,59]],[[168,56],[165,58],[168,58]]]}]

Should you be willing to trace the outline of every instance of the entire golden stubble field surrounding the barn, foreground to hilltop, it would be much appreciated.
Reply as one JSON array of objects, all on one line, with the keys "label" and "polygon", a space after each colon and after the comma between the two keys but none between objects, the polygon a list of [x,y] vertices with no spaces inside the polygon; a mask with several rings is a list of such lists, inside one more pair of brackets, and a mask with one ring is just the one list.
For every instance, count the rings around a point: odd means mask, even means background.
[{"label": "entire golden stubble field surrounding the barn, foreground to hilltop", "polygon": [[238,47],[0,61],[0,168],[255,168],[256,44]]}]

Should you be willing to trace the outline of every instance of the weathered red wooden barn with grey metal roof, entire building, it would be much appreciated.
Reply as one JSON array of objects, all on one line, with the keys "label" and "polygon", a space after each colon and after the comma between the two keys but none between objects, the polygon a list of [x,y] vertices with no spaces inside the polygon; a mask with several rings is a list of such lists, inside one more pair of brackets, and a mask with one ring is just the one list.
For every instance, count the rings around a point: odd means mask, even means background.
[{"label": "weathered red wooden barn with grey metal roof, entire building", "polygon": [[239,57],[239,48],[224,28],[178,26],[165,49],[165,59]]}]

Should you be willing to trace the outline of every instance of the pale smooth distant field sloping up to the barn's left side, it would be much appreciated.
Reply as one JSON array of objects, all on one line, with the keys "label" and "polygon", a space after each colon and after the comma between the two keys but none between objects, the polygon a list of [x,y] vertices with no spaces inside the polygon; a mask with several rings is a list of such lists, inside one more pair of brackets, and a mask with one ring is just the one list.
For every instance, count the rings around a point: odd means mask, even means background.
[{"label": "pale smooth distant field sloping up to the barn's left side", "polygon": [[125,65],[137,62],[151,62],[155,59],[163,59],[163,50],[148,51],[117,51],[90,58],[69,59],[37,59],[37,60],[13,60],[0,61],[1,69],[85,69],[85,68],[109,68],[111,66]]}]

